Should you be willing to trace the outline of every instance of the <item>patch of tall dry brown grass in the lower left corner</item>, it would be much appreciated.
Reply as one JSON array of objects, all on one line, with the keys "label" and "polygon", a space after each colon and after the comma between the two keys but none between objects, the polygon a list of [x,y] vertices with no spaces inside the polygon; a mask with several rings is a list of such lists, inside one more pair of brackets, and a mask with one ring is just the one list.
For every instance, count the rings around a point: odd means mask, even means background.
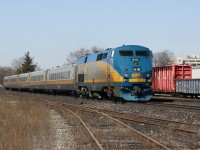
[{"label": "patch of tall dry brown grass in the lower left corner", "polygon": [[0,99],[0,150],[48,149],[49,111],[25,100]]}]

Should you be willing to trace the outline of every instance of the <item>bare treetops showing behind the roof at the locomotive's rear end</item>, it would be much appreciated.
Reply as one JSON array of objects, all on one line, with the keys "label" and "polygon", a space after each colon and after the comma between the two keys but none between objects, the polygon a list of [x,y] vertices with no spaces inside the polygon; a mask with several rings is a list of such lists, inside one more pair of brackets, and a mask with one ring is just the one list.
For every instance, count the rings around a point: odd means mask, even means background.
[{"label": "bare treetops showing behind the roof at the locomotive's rear end", "polygon": [[89,49],[85,49],[85,48],[81,48],[78,49],[76,51],[70,52],[70,54],[67,56],[67,63],[65,63],[64,65],[74,65],[76,64],[76,60],[80,57],[80,56],[84,56],[86,54],[90,54],[90,53],[95,53],[97,51],[102,51],[102,48],[97,48],[96,46],[92,47],[91,50]]}]

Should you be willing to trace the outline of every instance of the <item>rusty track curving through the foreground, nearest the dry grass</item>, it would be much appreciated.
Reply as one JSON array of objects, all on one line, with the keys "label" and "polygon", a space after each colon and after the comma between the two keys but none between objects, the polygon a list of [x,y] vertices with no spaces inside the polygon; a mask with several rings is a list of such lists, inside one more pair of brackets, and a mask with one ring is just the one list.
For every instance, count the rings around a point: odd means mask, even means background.
[{"label": "rusty track curving through the foreground, nearest the dry grass", "polygon": [[158,141],[97,109],[59,102],[43,103],[64,109],[76,116],[96,143],[95,149],[96,147],[101,150],[121,149],[120,146],[123,146],[123,149],[169,149]]}]

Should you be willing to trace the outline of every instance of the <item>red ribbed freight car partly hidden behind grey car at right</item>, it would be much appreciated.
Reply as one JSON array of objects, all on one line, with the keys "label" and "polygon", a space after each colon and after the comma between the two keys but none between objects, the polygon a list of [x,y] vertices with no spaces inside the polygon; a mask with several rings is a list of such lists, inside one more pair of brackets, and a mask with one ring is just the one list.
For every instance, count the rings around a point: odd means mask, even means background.
[{"label": "red ribbed freight car partly hidden behind grey car at right", "polygon": [[152,75],[152,89],[154,93],[175,93],[178,79],[191,79],[191,65],[167,65],[154,67]]}]

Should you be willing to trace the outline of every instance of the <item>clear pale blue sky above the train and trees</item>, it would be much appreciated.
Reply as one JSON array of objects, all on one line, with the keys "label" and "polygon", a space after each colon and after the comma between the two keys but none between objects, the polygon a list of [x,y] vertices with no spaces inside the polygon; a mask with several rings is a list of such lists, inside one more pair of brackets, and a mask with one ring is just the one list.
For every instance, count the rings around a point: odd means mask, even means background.
[{"label": "clear pale blue sky above the train and trees", "polygon": [[69,52],[142,45],[200,53],[200,0],[0,0],[0,66],[29,51],[40,68]]}]

